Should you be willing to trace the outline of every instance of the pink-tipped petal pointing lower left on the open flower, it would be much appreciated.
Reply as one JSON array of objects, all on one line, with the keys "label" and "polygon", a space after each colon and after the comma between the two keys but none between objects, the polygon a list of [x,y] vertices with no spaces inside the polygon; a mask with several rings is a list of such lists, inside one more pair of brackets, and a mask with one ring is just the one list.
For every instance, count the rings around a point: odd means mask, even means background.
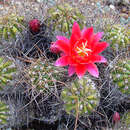
[{"label": "pink-tipped petal pointing lower left on the open flower", "polygon": [[55,66],[66,66],[69,63],[68,61],[69,61],[68,56],[62,56],[55,62]]}]

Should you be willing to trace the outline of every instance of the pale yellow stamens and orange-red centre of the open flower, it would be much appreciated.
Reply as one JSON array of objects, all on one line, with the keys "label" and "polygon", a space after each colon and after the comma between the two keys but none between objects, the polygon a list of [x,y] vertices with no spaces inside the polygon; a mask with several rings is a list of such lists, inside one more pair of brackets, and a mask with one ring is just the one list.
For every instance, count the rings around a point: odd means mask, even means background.
[{"label": "pale yellow stamens and orange-red centre of the open flower", "polygon": [[87,41],[77,42],[75,50],[82,57],[88,56],[89,53],[92,52],[92,50],[88,48]]}]

